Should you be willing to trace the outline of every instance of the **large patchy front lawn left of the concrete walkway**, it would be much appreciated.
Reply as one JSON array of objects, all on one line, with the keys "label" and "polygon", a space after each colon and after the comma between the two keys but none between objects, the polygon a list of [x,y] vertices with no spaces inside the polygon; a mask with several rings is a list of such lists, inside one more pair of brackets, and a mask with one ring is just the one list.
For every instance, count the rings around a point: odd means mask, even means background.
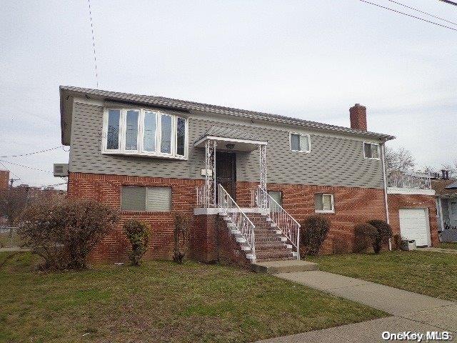
[{"label": "large patchy front lawn left of the concrete walkway", "polygon": [[196,262],[36,272],[0,253],[0,342],[252,342],[386,316],[266,274]]}]

